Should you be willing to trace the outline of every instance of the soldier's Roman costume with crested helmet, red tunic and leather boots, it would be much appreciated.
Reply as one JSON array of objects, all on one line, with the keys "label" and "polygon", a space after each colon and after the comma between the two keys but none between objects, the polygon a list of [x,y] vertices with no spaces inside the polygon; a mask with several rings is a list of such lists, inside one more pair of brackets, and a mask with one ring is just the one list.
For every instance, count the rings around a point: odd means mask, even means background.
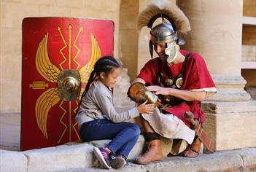
[{"label": "soldier's Roman costume with crested helmet, red tunic and leather boots", "polygon": [[[179,7],[170,1],[155,1],[140,12],[137,26],[139,30],[147,26],[151,35],[149,47],[152,59],[144,65],[138,75],[146,82],[145,85],[205,91],[206,96],[216,93],[216,87],[201,55],[179,50],[179,45],[185,42],[179,38],[178,32],[190,31],[189,20]],[[154,44],[166,44],[165,58],[152,57]],[[185,60],[174,63],[179,52]],[[201,141],[195,139],[195,131],[190,128],[191,122],[184,114],[193,112],[195,120],[202,124],[204,114],[200,102],[185,101],[171,95],[158,95],[158,98],[160,101],[153,101],[158,105],[154,114],[141,114],[155,133],[146,133],[148,149],[136,159],[136,163],[162,160],[163,156],[169,153],[182,153],[186,157],[198,156]]]}]

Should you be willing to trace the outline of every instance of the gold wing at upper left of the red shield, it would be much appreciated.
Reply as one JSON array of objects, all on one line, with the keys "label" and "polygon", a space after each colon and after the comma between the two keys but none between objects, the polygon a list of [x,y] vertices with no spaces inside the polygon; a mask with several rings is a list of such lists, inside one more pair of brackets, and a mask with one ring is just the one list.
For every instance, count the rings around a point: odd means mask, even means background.
[{"label": "gold wing at upper left of the red shield", "polygon": [[55,65],[53,65],[49,59],[47,49],[48,34],[49,33],[44,36],[37,48],[36,69],[48,82],[58,83],[58,75],[61,73],[61,71]]}]

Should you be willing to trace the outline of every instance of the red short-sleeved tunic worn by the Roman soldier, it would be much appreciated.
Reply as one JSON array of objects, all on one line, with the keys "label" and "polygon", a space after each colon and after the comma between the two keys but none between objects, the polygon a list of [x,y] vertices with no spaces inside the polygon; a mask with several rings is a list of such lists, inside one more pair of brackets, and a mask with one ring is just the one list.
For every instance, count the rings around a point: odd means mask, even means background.
[{"label": "red short-sleeved tunic worn by the Roman soldier", "polygon": [[[186,56],[187,51],[180,50],[182,55]],[[167,63],[161,63],[161,72],[166,74],[168,77],[176,77],[182,70],[182,63],[174,64],[173,66],[168,66]],[[143,79],[147,85],[158,85],[158,59],[154,58],[149,60],[144,67],[141,69],[139,78]],[[206,63],[204,62],[201,55],[193,52],[190,58],[187,59],[187,66],[185,69],[184,84],[182,85],[182,90],[193,90],[200,91],[204,90],[206,92],[216,92],[216,87],[212,81],[212,77],[209,74]],[[173,106],[171,109],[167,109],[166,112],[174,114],[179,117],[187,126],[190,122],[185,118],[184,114],[187,111],[193,112],[195,118],[201,118],[201,122],[204,122],[204,114],[200,108],[200,102],[183,102],[177,106]]]}]

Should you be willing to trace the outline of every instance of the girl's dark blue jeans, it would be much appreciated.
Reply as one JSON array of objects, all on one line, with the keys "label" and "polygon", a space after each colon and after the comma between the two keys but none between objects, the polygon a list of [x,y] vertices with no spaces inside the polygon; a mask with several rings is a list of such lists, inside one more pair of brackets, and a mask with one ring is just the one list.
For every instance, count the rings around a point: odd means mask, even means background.
[{"label": "girl's dark blue jeans", "polygon": [[111,122],[109,120],[93,120],[82,124],[79,136],[82,141],[111,139],[106,146],[115,155],[128,157],[140,135],[139,126],[131,122]]}]

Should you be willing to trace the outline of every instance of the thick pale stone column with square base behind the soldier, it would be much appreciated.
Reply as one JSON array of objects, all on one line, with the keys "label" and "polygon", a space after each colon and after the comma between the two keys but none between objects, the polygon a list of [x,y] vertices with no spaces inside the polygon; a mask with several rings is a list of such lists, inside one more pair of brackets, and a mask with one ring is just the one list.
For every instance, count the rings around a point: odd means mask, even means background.
[{"label": "thick pale stone column with square base behind the soldier", "polygon": [[218,93],[202,104],[205,130],[218,150],[256,146],[256,103],[241,77],[243,1],[177,0],[190,20],[184,49],[206,60]]}]

